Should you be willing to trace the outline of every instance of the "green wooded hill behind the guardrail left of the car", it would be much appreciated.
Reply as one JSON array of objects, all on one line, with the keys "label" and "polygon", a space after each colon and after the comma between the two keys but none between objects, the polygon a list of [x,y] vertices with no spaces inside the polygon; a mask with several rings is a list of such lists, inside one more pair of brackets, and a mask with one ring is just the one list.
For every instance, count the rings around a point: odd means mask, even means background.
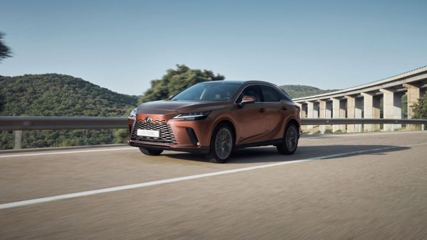
[{"label": "green wooded hill behind the guardrail left of the car", "polygon": [[[0,86],[0,116],[125,116],[137,105],[136,96],[68,75],[0,76]],[[114,141],[112,129],[23,132],[23,148]],[[12,148],[11,144],[11,132],[1,132],[0,149]]]}]

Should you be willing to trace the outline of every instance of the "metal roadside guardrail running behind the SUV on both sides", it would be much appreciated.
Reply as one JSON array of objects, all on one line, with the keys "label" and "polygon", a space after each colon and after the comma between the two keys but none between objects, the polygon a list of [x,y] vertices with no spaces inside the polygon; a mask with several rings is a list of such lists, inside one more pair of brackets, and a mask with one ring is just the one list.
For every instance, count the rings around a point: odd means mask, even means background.
[{"label": "metal roadside guardrail running behind the SUV on both sides", "polygon": [[[414,124],[424,126],[427,119],[301,119],[302,125],[334,124]],[[72,129],[125,129],[126,117],[97,116],[0,116],[0,131],[14,131],[14,148],[21,148],[22,131]]]}]

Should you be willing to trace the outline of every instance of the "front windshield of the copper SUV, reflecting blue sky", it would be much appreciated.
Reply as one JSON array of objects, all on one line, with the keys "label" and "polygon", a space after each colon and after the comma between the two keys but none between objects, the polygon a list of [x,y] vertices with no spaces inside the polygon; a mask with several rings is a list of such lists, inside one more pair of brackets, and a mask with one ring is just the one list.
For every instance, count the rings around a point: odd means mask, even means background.
[{"label": "front windshield of the copper SUV, reflecting blue sky", "polygon": [[171,100],[227,101],[233,97],[240,85],[228,82],[199,83],[176,94]]}]

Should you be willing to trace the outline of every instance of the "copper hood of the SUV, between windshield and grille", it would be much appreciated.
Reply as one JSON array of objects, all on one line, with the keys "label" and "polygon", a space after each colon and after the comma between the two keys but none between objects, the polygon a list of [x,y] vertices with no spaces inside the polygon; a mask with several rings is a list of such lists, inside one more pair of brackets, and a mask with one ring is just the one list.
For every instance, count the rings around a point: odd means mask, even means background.
[{"label": "copper hood of the SUV, between windshield and grille", "polygon": [[217,101],[155,101],[140,104],[137,114],[170,114],[171,111],[177,113],[191,113],[194,111],[212,111],[226,107],[227,102]]}]

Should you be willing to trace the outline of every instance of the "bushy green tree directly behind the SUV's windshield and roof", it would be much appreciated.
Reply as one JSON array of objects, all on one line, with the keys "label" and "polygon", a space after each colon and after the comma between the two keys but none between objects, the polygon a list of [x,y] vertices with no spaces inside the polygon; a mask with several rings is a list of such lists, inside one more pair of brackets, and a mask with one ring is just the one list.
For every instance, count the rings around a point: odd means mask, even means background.
[{"label": "bushy green tree directly behind the SUV's windshield and roof", "polygon": [[152,80],[152,86],[139,99],[139,102],[150,102],[169,98],[199,82],[224,80],[223,75],[214,75],[211,70],[191,69],[186,65],[176,65],[176,70],[167,70],[160,80]]}]

